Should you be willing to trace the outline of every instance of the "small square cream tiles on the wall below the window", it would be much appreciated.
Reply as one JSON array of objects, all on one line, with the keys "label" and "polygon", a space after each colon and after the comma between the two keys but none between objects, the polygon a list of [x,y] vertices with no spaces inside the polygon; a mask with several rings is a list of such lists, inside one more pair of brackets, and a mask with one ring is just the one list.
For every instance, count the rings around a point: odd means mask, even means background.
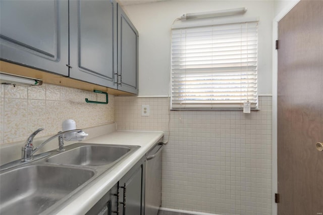
[{"label": "small square cream tiles on the wall below the window", "polygon": [[[169,111],[168,98],[115,97],[120,130],[161,130],[162,206],[216,214],[272,214],[272,97],[260,111]],[[141,105],[150,116],[141,116]]]}]

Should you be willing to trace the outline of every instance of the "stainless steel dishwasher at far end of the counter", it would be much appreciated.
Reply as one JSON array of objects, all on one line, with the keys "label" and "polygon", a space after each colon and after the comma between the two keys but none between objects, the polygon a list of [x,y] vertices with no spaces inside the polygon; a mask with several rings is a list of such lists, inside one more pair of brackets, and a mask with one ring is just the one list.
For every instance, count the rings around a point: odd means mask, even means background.
[{"label": "stainless steel dishwasher at far end of the counter", "polygon": [[146,153],[145,215],[157,215],[161,205],[161,139]]}]

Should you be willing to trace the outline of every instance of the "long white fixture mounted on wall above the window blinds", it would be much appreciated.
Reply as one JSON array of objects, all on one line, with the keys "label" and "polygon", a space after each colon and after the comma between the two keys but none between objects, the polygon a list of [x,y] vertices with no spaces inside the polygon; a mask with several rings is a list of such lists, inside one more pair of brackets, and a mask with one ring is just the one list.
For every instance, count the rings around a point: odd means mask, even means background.
[{"label": "long white fixture mounted on wall above the window blinds", "polygon": [[204,18],[212,18],[212,17],[224,17],[224,16],[232,16],[232,15],[237,15],[237,14],[244,14],[246,12],[247,12],[247,8],[234,8],[234,9],[220,10],[220,11],[184,14],[181,16],[181,19],[188,20],[188,19],[204,19]]}]

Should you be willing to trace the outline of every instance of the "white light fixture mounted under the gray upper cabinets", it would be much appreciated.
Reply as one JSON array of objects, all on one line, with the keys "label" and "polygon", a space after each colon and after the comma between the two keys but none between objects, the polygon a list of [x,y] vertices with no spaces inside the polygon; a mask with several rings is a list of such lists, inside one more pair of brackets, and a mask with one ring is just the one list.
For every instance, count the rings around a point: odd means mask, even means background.
[{"label": "white light fixture mounted under the gray upper cabinets", "polygon": [[42,85],[42,80],[35,78],[28,78],[23,76],[9,75],[0,73],[1,84],[24,85],[24,86],[37,86]]}]

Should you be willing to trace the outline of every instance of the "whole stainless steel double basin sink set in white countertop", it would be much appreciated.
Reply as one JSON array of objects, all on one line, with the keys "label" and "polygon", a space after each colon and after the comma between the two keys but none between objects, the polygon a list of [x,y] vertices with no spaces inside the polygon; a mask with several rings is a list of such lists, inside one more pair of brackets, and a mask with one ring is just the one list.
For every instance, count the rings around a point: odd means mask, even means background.
[{"label": "whole stainless steel double basin sink set in white countertop", "polygon": [[52,150],[45,157],[3,170],[0,213],[55,213],[139,147],[75,143],[63,152]]}]

